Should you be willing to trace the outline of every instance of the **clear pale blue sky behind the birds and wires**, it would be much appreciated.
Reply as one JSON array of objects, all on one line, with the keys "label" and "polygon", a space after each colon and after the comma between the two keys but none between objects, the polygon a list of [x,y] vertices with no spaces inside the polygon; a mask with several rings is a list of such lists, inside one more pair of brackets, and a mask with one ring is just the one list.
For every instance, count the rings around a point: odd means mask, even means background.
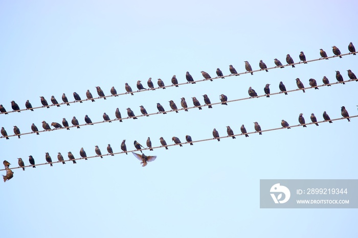
[{"label": "clear pale blue sky behind the birds and wires", "polygon": [[[1,1],[0,2],[0,104],[10,111],[14,100],[21,109],[26,100],[41,106],[40,96],[50,103],[61,102],[62,93],[73,100],[76,91],[82,99],[96,86],[106,95],[124,84],[136,89],[149,77],[154,84],[161,78],[171,85],[176,75],[186,82],[187,71],[195,80],[204,70],[212,77],[219,67],[228,75],[232,64],[244,72],[245,60],[258,69],[260,60],[268,67],[278,58],[285,64],[290,54],[295,62],[303,51],[307,60],[320,57],[319,49],[332,56],[336,45],[348,53],[350,41],[358,48],[356,1]],[[35,111],[0,115],[0,126],[13,134],[13,126],[31,132],[31,124],[69,122],[84,115],[93,122],[103,121],[106,112],[115,118],[130,107],[136,115],[140,105],[148,113],[158,111],[156,103],[169,110],[168,101],[180,106],[192,97],[204,104],[219,95],[229,100],[248,97],[253,87],[263,94],[266,83],[278,92],[283,81],[287,90],[296,89],[296,78],[309,86],[323,76],[336,82],[335,70],[345,80],[347,69],[358,75],[358,56],[299,64],[295,68],[272,69],[238,77],[170,87],[165,90],[111,97],[96,102],[74,103]],[[123,123],[103,123],[80,129],[57,130],[21,139],[0,139],[1,160],[17,165],[21,157],[29,164],[53,161],[61,152],[71,151],[79,158],[81,147],[87,156],[102,153],[107,144],[120,152],[126,139],[143,146],[148,136],[160,146],[161,136],[173,144],[172,136],[185,141],[212,138],[216,128],[226,135],[226,126],[235,134],[245,125],[254,131],[281,126],[281,120],[298,124],[303,113],[306,122],[315,113],[322,121],[323,111],[331,118],[341,117],[341,106],[357,114],[358,83],[295,91],[287,96],[251,99],[214,105],[212,109],[151,115]],[[70,122],[71,124],[71,122]],[[133,155],[120,154],[37,166],[26,171],[14,169],[14,178],[0,184],[3,237],[356,237],[355,209],[260,209],[260,179],[356,179],[356,132],[352,118],[307,128],[252,134],[236,139],[210,140],[193,146],[145,151],[158,156],[142,168]],[[2,171],[0,174],[5,174]],[[281,230],[278,232],[278,230]]]}]

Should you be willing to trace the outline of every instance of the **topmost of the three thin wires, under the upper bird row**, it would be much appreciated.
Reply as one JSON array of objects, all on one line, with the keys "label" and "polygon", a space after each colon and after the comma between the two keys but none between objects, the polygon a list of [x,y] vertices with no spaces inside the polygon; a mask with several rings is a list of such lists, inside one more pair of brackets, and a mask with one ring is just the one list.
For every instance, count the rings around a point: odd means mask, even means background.
[{"label": "topmost of the three thin wires, under the upper bird row", "polygon": [[[337,58],[339,56],[346,56],[346,55],[351,55],[353,53],[358,53],[358,52],[350,52],[347,54],[342,54],[342,55],[334,55],[334,56],[329,56],[326,58],[319,58],[319,59],[313,59],[313,60],[306,60],[304,62],[308,63],[308,62],[314,62],[314,61],[318,61],[318,60],[324,60],[324,59],[330,59],[330,58]],[[297,62],[297,63],[293,63],[293,64],[286,64],[286,65],[282,65],[282,66],[289,66],[289,65],[295,65],[295,64],[303,64],[303,61],[301,62]],[[271,68],[265,68],[267,70],[269,69],[274,69],[274,68],[280,68],[280,66],[275,66],[275,67],[271,67]],[[197,80],[197,81],[193,81],[193,82],[186,82],[186,83],[179,83],[179,84],[173,84],[173,85],[168,85],[168,86],[164,86],[165,88],[167,87],[174,87],[174,86],[178,86],[178,85],[186,85],[186,84],[190,84],[190,83],[197,83],[197,82],[203,82],[203,81],[208,81],[208,80],[214,80],[214,79],[219,79],[222,77],[232,77],[232,76],[239,76],[239,75],[244,75],[244,74],[249,74],[249,73],[254,73],[254,72],[260,72],[260,71],[264,71],[265,69],[257,69],[257,70],[253,70],[253,71],[247,71],[247,72],[242,72],[242,73],[238,73],[238,74],[231,74],[231,75],[227,75],[227,76],[218,76],[218,77],[214,77],[211,79],[202,79],[202,80]],[[154,89],[160,89],[163,87],[155,87]],[[78,101],[71,101],[68,103],[58,103],[58,104],[52,104],[52,105],[48,105],[48,106],[41,106],[41,107],[33,107],[33,108],[26,108],[26,109],[20,109],[20,110],[15,110],[15,111],[7,111],[7,112],[0,112],[0,114],[5,114],[5,113],[12,113],[12,112],[19,112],[19,111],[27,111],[30,109],[38,109],[38,108],[45,108],[45,107],[53,107],[53,106],[57,106],[57,105],[65,105],[65,104],[71,104],[71,103],[78,103],[78,102],[84,102],[84,101],[91,101],[91,100],[95,100],[95,99],[101,99],[101,98],[110,98],[110,97],[116,97],[116,96],[122,96],[122,95],[126,95],[126,94],[130,94],[130,93],[138,93],[138,92],[143,92],[143,91],[152,91],[153,89],[148,88],[148,89],[144,89],[144,90],[138,90],[138,91],[133,91],[133,92],[125,92],[125,93],[118,93],[118,94],[111,94],[108,96],[104,96],[104,97],[97,97],[97,98],[91,98],[91,99],[83,99],[83,100],[78,100]]]}]

